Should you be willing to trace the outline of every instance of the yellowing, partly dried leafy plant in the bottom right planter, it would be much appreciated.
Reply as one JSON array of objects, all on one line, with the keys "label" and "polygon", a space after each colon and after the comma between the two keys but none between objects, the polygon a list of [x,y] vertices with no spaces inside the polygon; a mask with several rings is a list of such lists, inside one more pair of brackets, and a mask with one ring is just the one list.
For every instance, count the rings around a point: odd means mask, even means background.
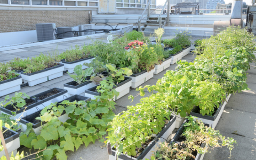
[{"label": "yellowing, partly dried leafy plant in the bottom right planter", "polygon": [[[214,130],[210,127],[207,127],[202,122],[193,121],[196,117],[186,117],[188,118],[188,122],[184,124],[185,129],[183,130],[183,134],[186,140],[179,144],[171,144],[160,145],[159,150],[155,153],[155,155],[151,158],[151,160],[161,160],[165,159],[187,159],[187,158],[195,158],[192,154],[197,151],[199,154],[204,154],[209,152],[210,149],[227,146],[230,150],[234,148],[234,144],[236,141],[233,138],[225,138],[222,136],[218,130]],[[206,144],[204,148],[202,148],[201,144]]]}]

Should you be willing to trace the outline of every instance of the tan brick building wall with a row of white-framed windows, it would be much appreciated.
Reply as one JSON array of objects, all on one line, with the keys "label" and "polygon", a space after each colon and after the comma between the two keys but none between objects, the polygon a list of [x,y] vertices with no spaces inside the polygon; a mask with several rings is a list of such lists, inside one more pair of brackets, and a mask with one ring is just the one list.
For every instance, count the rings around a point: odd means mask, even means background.
[{"label": "tan brick building wall with a row of white-framed windows", "polygon": [[[95,14],[141,14],[148,0],[0,0],[0,33],[89,24]],[[156,0],[151,0],[151,9]]]}]

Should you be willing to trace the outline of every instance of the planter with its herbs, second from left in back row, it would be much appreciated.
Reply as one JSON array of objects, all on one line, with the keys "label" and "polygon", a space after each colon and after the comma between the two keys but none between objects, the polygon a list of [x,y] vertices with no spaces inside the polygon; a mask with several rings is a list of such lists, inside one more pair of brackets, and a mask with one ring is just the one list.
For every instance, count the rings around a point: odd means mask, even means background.
[{"label": "planter with its herbs, second from left in back row", "polygon": [[55,62],[54,57],[40,54],[31,58],[31,63],[21,72],[24,82],[34,86],[63,75],[64,65]]}]

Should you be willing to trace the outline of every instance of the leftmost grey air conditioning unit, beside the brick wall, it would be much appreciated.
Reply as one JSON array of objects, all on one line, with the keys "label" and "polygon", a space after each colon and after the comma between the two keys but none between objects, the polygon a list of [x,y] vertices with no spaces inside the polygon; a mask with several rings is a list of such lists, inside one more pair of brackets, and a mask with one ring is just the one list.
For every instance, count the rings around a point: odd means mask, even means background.
[{"label": "leftmost grey air conditioning unit, beside the brick wall", "polygon": [[37,41],[49,41],[55,39],[54,28],[55,23],[39,23],[36,24]]}]

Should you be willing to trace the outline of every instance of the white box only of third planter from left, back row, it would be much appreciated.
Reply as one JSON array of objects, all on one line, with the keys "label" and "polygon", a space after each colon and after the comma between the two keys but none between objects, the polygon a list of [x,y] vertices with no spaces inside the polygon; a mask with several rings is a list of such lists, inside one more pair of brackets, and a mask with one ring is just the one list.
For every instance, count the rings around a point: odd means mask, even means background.
[{"label": "white box only of third planter from left, back row", "polygon": [[81,64],[82,65],[82,69],[86,69],[88,68],[87,66],[83,65],[84,63],[90,63],[91,60],[94,59],[94,57],[89,57],[89,58],[85,58],[85,59],[80,59],[80,60],[76,60],[74,62],[65,62],[62,61],[60,63],[64,64],[64,69],[68,70],[69,73],[74,73],[74,68],[75,66]]}]

